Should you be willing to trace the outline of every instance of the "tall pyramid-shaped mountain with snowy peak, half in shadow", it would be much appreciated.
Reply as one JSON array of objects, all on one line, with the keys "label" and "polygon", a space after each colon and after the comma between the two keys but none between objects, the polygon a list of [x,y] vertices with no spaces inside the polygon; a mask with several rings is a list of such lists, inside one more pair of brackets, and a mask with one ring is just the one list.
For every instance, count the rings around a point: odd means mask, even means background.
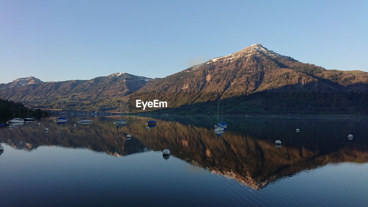
[{"label": "tall pyramid-shaped mountain with snowy peak, half in shadow", "polygon": [[129,98],[132,102],[156,97],[168,101],[172,108],[198,105],[197,112],[217,99],[226,101],[230,111],[318,112],[337,106],[337,110],[353,111],[364,110],[361,106],[368,103],[367,91],[368,73],[325,70],[255,44],[156,78]]}]

